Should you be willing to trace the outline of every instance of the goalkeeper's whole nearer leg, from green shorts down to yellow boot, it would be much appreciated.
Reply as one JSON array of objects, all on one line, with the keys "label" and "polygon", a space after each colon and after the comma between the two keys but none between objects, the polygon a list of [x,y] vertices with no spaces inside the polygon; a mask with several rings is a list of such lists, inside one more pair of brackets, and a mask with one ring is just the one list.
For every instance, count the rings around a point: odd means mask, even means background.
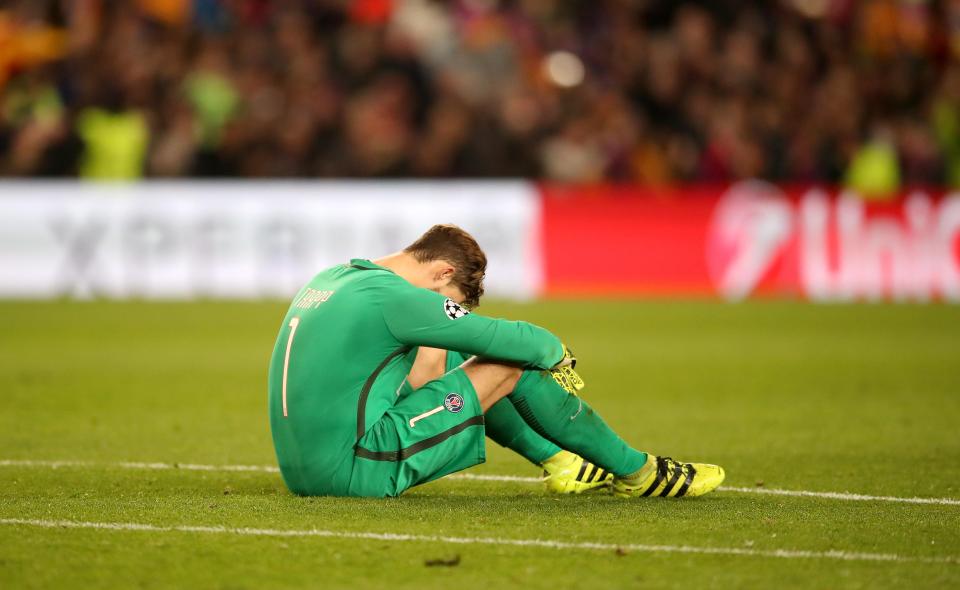
[{"label": "goalkeeper's whole nearer leg, from green shorts down to yellow boot", "polygon": [[482,463],[482,413],[508,395],[544,438],[617,474],[614,490],[620,495],[699,495],[723,478],[714,466],[694,464],[695,471],[694,465],[630,448],[588,404],[546,373],[472,358],[403,396],[367,432],[358,444],[351,495],[399,495]]}]

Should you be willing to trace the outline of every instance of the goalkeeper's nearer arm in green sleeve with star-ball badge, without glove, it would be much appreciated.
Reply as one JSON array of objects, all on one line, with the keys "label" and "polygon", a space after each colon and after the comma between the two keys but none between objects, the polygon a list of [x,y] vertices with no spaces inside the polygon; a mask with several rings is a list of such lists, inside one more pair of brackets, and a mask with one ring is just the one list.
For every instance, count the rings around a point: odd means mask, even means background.
[{"label": "goalkeeper's nearer arm in green sleeve with star-ball badge, without glove", "polygon": [[394,337],[415,346],[457,350],[549,369],[564,358],[560,340],[528,322],[466,313],[426,289],[391,291],[383,317]]}]

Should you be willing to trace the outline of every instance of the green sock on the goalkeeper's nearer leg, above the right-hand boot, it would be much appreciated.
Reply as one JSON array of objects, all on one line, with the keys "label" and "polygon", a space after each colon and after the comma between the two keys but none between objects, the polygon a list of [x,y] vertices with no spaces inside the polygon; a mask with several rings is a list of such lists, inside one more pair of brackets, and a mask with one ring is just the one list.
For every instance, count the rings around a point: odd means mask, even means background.
[{"label": "green sock on the goalkeeper's nearer leg, above the right-hand boot", "polygon": [[507,399],[540,436],[616,475],[635,473],[647,462],[646,453],[631,448],[587,402],[545,371],[524,371]]}]

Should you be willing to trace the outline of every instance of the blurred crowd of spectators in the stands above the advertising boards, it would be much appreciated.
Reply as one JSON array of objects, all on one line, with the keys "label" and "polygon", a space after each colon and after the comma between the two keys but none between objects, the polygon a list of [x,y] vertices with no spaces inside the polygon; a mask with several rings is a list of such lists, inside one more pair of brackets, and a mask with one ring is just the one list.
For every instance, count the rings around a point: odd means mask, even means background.
[{"label": "blurred crowd of spectators in the stands above the advertising boards", "polygon": [[960,186],[960,0],[7,0],[0,176]]}]

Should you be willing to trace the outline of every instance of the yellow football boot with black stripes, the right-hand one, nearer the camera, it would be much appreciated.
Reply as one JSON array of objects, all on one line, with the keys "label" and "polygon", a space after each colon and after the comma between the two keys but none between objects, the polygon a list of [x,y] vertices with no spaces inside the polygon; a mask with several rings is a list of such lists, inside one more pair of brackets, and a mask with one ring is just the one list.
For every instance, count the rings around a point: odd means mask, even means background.
[{"label": "yellow football boot with black stripes, the right-hand one, nearer the camera", "polygon": [[707,463],[681,463],[670,457],[647,455],[634,477],[615,477],[613,493],[621,498],[702,496],[723,483],[723,467]]}]

